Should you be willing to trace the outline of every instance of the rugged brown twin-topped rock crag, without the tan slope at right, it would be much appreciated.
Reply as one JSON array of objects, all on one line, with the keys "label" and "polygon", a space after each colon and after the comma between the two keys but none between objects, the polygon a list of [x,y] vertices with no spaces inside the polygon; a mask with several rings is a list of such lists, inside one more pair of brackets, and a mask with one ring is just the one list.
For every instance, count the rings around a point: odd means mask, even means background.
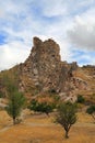
[{"label": "rugged brown twin-topped rock crag, without the tan slope at right", "polygon": [[73,82],[78,85],[73,79],[78,69],[76,63],[61,62],[60,47],[51,38],[43,42],[34,37],[33,44],[28,58],[20,66],[21,90],[37,87],[40,91],[55,90],[69,94],[70,88],[74,88]]}]

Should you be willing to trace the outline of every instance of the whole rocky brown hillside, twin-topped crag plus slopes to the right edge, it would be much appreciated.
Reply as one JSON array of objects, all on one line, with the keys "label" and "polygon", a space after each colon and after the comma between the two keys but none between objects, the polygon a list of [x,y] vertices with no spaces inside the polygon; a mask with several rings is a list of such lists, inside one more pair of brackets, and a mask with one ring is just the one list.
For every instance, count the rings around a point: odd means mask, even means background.
[{"label": "whole rocky brown hillside, twin-topped crag plus slopes to the right edge", "polygon": [[79,67],[75,62],[68,64],[61,61],[59,53],[60,47],[54,40],[43,42],[34,37],[25,63],[10,69],[12,75],[17,73],[19,89],[27,96],[48,91],[71,100],[75,100],[78,94],[94,94],[95,66]]}]

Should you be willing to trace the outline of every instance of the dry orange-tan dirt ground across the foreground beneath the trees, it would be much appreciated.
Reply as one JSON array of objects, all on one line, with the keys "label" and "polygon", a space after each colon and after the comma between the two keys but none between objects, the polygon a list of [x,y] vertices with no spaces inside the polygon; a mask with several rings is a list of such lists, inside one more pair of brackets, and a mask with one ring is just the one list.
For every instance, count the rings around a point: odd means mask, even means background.
[{"label": "dry orange-tan dirt ground across the foreground beneath the trees", "polygon": [[24,112],[23,118],[22,123],[13,125],[7,112],[0,111],[0,143],[95,143],[95,123],[85,113],[78,114],[68,140],[52,116]]}]

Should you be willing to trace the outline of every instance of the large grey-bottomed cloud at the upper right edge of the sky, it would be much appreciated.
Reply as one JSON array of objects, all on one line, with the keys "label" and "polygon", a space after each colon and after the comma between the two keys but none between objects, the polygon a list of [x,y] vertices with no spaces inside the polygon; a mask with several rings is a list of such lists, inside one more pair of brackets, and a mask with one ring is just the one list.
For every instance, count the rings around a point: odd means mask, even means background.
[{"label": "large grey-bottomed cloud at the upper right edge of the sky", "polygon": [[84,50],[95,51],[95,10],[88,10],[74,20],[73,28],[68,31],[71,43]]}]

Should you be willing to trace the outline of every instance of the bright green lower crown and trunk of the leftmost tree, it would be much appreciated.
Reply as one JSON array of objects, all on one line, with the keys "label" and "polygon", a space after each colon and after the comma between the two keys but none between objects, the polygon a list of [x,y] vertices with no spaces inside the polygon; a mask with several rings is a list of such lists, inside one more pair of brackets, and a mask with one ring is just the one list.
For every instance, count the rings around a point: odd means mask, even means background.
[{"label": "bright green lower crown and trunk of the leftmost tree", "polygon": [[19,91],[12,92],[9,96],[9,102],[5,107],[8,114],[13,119],[13,124],[16,123],[16,118],[21,114],[21,111],[25,105],[25,97]]}]

